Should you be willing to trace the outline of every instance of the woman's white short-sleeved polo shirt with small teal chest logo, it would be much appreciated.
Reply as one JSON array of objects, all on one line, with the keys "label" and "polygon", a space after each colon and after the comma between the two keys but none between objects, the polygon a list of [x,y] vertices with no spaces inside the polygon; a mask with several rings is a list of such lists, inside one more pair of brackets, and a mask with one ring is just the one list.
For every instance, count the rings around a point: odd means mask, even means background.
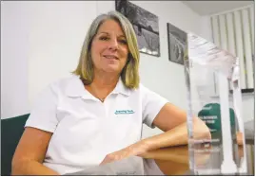
[{"label": "woman's white short-sleeved polo shirt with small teal chest logo", "polygon": [[167,99],[140,84],[127,89],[120,79],[101,102],[77,77],[57,80],[36,99],[25,127],[53,133],[44,165],[60,174],[99,165],[108,153],[140,141]]}]

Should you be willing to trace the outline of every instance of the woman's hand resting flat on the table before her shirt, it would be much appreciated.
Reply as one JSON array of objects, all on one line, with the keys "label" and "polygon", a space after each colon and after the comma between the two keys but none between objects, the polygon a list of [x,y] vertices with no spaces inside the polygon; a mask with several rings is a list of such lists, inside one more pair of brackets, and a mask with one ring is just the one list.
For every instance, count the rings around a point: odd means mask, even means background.
[{"label": "woman's hand resting flat on the table before her shirt", "polygon": [[125,149],[117,150],[112,153],[108,153],[100,165],[104,165],[113,161],[122,160],[130,156],[140,156],[149,150],[149,146],[145,141],[132,144]]}]

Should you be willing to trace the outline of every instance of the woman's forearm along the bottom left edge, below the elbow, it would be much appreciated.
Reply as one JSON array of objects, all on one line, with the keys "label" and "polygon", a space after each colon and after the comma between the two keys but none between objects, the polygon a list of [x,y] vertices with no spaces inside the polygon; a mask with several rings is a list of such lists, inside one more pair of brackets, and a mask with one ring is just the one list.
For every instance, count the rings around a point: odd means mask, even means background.
[{"label": "woman's forearm along the bottom left edge, below the elbow", "polygon": [[11,175],[60,175],[43,164],[26,160],[12,165]]}]

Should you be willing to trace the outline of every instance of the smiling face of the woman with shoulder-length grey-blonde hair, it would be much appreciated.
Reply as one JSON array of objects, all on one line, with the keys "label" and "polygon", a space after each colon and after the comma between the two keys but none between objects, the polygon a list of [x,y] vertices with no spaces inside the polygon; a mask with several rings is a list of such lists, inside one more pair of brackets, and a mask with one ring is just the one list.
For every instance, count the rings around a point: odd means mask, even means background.
[{"label": "smiling face of the woman with shoulder-length grey-blonde hair", "polygon": [[128,61],[126,36],[117,22],[106,20],[91,43],[94,70],[120,74]]}]

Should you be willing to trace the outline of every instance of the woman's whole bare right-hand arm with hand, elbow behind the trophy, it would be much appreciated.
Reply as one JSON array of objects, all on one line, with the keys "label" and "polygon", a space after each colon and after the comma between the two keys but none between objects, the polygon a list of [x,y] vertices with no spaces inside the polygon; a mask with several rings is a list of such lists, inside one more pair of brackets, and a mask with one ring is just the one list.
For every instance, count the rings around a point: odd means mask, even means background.
[{"label": "woman's whole bare right-hand arm with hand, elbow behind the trophy", "polygon": [[[193,121],[195,138],[211,138],[204,121],[197,117]],[[156,115],[153,124],[165,133],[148,137],[123,150],[112,152],[106,156],[102,164],[121,160],[131,155],[143,155],[148,150],[187,144],[187,114],[180,108],[167,103]]]}]

